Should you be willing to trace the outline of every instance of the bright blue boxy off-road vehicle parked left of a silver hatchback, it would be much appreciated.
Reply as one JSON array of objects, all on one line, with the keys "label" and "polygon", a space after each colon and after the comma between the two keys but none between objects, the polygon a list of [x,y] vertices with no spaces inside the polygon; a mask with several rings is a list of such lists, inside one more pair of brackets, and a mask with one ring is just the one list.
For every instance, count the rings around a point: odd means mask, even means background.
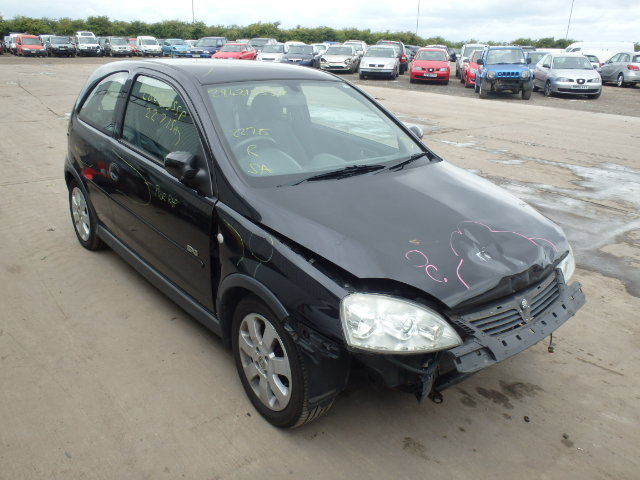
[{"label": "bright blue boxy off-road vehicle parked left of a silver hatchback", "polygon": [[476,93],[485,98],[489,92],[520,93],[523,100],[531,98],[533,75],[524,50],[518,46],[484,47],[478,59]]}]

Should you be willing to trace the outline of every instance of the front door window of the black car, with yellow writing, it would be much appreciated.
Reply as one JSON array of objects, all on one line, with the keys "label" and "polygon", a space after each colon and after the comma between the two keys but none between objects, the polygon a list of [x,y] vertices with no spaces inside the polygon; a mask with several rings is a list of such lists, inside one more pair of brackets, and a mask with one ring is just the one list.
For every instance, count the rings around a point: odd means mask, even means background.
[{"label": "front door window of the black car, with yellow writing", "polygon": [[123,138],[158,162],[171,152],[202,158],[198,131],[182,97],[167,83],[139,76],[124,117]]}]

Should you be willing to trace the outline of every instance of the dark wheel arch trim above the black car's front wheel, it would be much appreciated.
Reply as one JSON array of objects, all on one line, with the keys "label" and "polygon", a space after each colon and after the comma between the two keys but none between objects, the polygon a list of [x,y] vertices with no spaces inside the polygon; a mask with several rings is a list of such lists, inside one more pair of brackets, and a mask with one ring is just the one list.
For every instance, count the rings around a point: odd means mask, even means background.
[{"label": "dark wheel arch trim above the black car's front wheel", "polygon": [[222,280],[216,296],[217,317],[225,345],[231,345],[231,324],[236,306],[242,298],[251,294],[262,300],[278,321],[284,323],[289,317],[289,312],[282,302],[263,283],[242,273],[232,273]]}]

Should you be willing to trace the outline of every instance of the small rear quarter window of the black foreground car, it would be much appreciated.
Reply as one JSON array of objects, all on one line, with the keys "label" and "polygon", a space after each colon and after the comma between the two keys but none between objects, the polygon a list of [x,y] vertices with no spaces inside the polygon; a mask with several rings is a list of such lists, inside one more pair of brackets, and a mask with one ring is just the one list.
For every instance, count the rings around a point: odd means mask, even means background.
[{"label": "small rear quarter window of the black foreground car", "polygon": [[105,133],[112,133],[116,104],[127,77],[127,72],[118,72],[98,83],[80,107],[78,118]]}]

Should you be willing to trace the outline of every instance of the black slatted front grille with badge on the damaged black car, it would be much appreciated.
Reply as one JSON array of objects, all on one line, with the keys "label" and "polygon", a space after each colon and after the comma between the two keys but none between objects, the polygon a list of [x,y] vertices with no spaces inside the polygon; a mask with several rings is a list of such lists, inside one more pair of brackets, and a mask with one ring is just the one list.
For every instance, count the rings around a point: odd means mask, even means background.
[{"label": "black slatted front grille with badge on the damaged black car", "polygon": [[452,316],[452,320],[467,333],[479,331],[499,337],[533,322],[559,296],[558,280],[554,272],[537,286],[510,296],[502,303],[494,303],[480,311]]}]

